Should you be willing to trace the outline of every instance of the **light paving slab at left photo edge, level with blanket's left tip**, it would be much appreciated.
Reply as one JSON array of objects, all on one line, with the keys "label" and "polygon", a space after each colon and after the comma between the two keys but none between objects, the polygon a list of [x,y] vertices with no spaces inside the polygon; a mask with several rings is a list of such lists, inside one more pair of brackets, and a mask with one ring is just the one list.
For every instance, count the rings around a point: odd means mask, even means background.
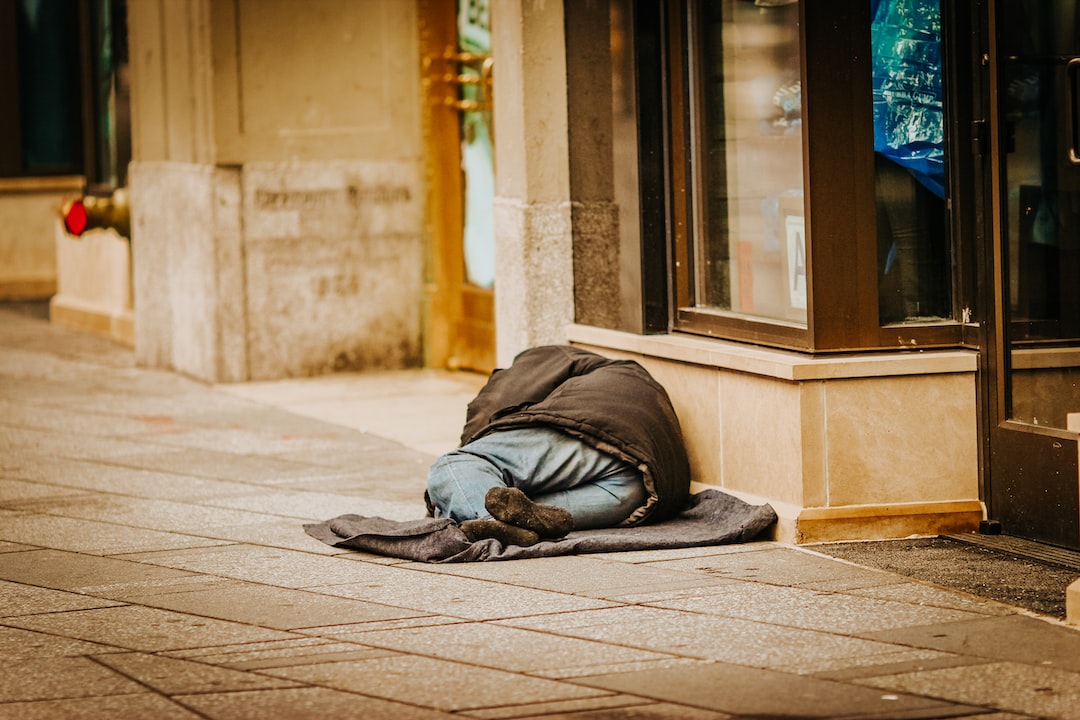
[{"label": "light paving slab at left photo edge, level with blanket's left tip", "polygon": [[[35,505],[35,507],[42,506],[43,504]],[[0,526],[0,538],[11,542],[36,542],[43,547],[91,555],[206,547],[220,545],[225,542],[112,522],[96,522],[52,515],[22,515],[5,518],[3,525]]]}]

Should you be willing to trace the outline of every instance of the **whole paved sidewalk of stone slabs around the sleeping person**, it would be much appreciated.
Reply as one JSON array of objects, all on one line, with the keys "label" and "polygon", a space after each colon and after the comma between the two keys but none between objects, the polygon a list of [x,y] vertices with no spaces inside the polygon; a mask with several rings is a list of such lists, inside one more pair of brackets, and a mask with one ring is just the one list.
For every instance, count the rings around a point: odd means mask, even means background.
[{"label": "whole paved sidewalk of stone slabs around the sleeping person", "polygon": [[1077,629],[805,548],[305,534],[421,517],[481,381],[208,388],[0,309],[0,720],[1080,718]]}]

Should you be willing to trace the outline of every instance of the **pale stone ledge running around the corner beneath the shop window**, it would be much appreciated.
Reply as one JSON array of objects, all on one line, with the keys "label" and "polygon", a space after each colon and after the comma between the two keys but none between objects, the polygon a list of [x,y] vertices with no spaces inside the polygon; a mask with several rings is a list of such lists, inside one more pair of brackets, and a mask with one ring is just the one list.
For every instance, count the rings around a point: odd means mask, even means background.
[{"label": "pale stone ledge running around the corner beneath the shop window", "polygon": [[978,361],[978,354],[973,350],[813,356],[712,338],[688,335],[636,335],[589,325],[568,326],[566,338],[571,343],[794,382],[974,372]]}]

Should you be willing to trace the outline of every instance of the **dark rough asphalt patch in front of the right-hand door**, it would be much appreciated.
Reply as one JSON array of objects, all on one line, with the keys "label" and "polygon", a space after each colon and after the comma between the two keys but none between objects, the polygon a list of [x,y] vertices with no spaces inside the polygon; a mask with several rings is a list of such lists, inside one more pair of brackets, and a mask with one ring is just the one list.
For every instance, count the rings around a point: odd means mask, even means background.
[{"label": "dark rough asphalt patch in front of the right-hand door", "polygon": [[1080,567],[948,536],[811,545],[823,555],[1065,619],[1065,590]]}]

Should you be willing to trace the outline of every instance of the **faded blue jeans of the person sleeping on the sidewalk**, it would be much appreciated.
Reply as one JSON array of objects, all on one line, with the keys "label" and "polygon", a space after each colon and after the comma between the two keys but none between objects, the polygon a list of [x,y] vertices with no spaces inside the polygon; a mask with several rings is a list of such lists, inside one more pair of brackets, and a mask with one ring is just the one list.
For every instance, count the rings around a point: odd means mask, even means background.
[{"label": "faded blue jeans of the person sleeping on the sidewalk", "polygon": [[428,472],[437,514],[458,522],[490,517],[484,497],[497,487],[569,511],[576,530],[613,527],[648,497],[634,465],[549,427],[491,433],[444,454]]}]

